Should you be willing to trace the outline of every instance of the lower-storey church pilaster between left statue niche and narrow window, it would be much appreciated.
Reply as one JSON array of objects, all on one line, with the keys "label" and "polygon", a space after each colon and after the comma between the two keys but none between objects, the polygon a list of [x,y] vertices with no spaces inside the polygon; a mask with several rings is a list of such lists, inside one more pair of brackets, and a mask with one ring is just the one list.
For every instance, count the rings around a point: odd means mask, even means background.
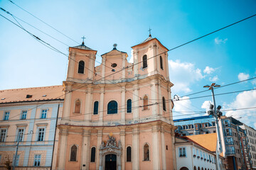
[{"label": "lower-storey church pilaster between left statue niche and narrow window", "polygon": [[82,170],[89,169],[89,162],[90,162],[90,131],[83,130],[82,132]]}]

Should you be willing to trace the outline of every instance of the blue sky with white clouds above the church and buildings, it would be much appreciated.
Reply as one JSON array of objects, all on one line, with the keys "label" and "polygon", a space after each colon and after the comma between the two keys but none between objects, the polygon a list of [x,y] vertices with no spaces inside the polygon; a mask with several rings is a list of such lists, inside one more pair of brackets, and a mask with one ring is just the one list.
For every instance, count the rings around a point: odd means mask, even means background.
[{"label": "blue sky with white clouds above the church and buildings", "polygon": [[[100,55],[112,50],[114,43],[117,43],[118,50],[128,53],[129,60],[131,47],[148,37],[149,26],[152,36],[171,49],[256,13],[254,0],[14,2],[79,43],[85,35],[85,45],[98,51],[98,62],[101,61]],[[0,6],[65,44],[78,45],[8,0],[1,0]],[[3,11],[0,13],[14,21]],[[19,22],[34,35],[68,54],[68,46]],[[211,82],[225,85],[256,77],[255,30],[256,17],[169,52],[170,79],[175,84],[172,96],[203,91],[203,86]],[[0,89],[59,85],[65,80],[67,57],[41,45],[2,17],[0,39]],[[215,94],[255,87],[256,81],[247,81],[216,89]],[[188,98],[186,101],[176,101],[174,111],[183,114],[206,111],[209,101],[212,101],[210,97],[190,99],[205,95],[210,95],[210,91],[185,97]],[[256,92],[216,96],[216,102],[226,110],[253,107],[256,106]],[[226,114],[256,127],[256,109]],[[174,119],[188,116],[178,115],[181,113],[174,113]]]}]

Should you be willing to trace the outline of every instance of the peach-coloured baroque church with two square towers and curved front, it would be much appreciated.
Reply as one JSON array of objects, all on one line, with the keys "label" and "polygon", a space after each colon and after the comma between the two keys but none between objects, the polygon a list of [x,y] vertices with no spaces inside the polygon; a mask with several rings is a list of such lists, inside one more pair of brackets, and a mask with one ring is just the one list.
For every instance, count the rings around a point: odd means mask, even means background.
[{"label": "peach-coloured baroque church with two square towers and curved front", "polygon": [[53,169],[176,169],[168,49],[156,38],[113,50],[69,48]]}]

